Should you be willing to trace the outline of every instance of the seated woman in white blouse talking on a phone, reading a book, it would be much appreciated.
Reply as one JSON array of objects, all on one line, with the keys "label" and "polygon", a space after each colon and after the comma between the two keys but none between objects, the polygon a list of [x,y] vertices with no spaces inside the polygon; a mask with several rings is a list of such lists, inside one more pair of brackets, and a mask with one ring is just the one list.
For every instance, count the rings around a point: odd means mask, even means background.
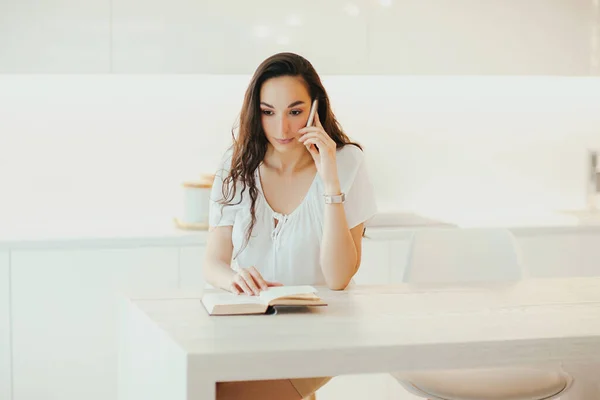
[{"label": "seated woman in white blouse talking on a phone, reading a book", "polygon": [[[213,184],[207,283],[251,296],[278,285],[342,290],[360,266],[364,223],[375,212],[362,149],[336,121],[313,66],[292,53],[263,61]],[[297,400],[327,381],[220,383],[217,397]]]}]

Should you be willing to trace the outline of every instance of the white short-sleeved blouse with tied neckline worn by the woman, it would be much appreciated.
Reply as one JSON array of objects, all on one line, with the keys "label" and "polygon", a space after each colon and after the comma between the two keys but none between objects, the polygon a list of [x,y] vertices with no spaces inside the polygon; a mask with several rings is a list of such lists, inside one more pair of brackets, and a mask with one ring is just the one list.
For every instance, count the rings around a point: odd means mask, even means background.
[{"label": "white short-sleeved blouse with tied neckline worn by the woman", "polygon": [[[342,192],[346,194],[346,220],[348,226],[353,228],[367,221],[377,211],[373,186],[363,152],[358,147],[346,145],[338,149],[336,160]],[[218,203],[223,198],[223,179],[230,166],[231,150],[226,153],[222,167],[215,174],[209,223],[211,227],[233,226],[232,268],[237,270],[254,266],[266,280],[284,285],[324,285],[319,255],[326,204],[319,173],[302,203],[292,213],[283,215],[273,211],[265,200],[257,169],[256,223],[244,247],[246,228],[251,219],[248,189],[241,196],[242,185],[238,184],[232,202],[234,205],[223,207]]]}]

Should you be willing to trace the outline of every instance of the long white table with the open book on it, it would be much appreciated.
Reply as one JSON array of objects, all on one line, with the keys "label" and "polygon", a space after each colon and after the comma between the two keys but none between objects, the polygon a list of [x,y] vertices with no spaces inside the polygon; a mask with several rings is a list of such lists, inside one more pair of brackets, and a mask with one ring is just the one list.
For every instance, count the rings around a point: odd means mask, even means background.
[{"label": "long white table with the open book on it", "polygon": [[600,361],[600,278],[321,289],[329,306],[209,317],[201,293],[130,296],[120,400],[215,398],[215,382]]}]

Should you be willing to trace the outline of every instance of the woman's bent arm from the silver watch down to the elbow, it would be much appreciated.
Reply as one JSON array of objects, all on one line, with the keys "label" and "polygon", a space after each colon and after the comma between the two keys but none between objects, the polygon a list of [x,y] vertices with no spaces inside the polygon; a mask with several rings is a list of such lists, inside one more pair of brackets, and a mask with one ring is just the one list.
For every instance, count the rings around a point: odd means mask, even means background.
[{"label": "woman's bent arm from the silver watch down to the elbow", "polygon": [[[326,194],[339,194],[336,189],[326,189]],[[327,286],[343,290],[358,271],[361,260],[363,224],[349,229],[344,205],[325,204],[323,239],[321,241],[321,268]]]}]

